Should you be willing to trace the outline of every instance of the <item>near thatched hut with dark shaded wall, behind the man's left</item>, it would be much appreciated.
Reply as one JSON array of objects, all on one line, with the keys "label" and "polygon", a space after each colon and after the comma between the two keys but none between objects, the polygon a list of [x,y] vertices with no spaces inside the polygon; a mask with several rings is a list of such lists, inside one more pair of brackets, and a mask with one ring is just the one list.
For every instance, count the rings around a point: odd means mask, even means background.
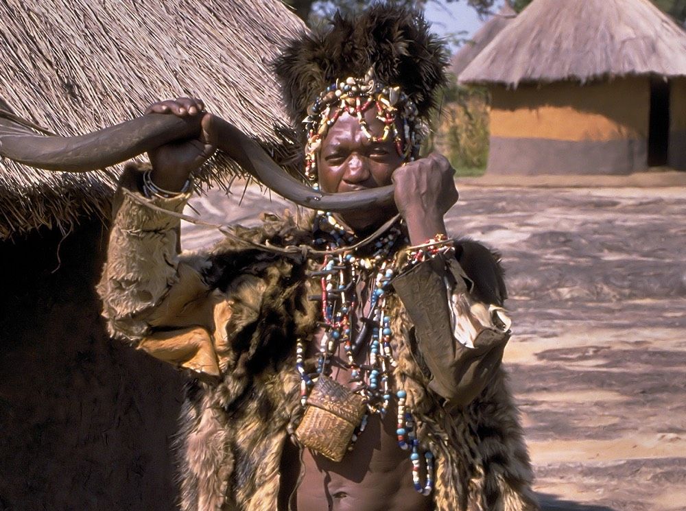
[{"label": "near thatched hut with dark shaded wall, behind the man's left", "polygon": [[[41,126],[89,132],[196,95],[294,151],[269,62],[304,25],[278,0],[2,2],[0,19],[2,108]],[[117,172],[0,161],[1,509],[175,508],[183,377],[110,342],[93,289]]]}]

